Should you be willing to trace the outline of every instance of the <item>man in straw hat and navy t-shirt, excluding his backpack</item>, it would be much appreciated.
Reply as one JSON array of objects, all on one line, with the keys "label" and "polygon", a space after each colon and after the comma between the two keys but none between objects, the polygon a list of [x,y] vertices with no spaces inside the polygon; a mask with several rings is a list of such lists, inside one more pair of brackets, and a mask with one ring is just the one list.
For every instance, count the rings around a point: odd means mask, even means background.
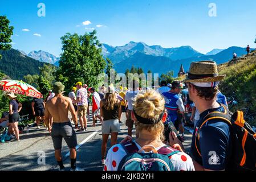
[{"label": "man in straw hat and navy t-shirt, excluding his backpack", "polygon": [[[231,126],[218,118],[205,122],[209,113],[229,112],[216,101],[218,84],[224,77],[218,75],[214,61],[200,61],[190,64],[188,77],[184,80],[188,85],[190,100],[200,112],[190,148],[196,170],[225,170],[231,156]],[[183,148],[174,133],[170,133],[169,138],[170,144],[178,143]]]}]

